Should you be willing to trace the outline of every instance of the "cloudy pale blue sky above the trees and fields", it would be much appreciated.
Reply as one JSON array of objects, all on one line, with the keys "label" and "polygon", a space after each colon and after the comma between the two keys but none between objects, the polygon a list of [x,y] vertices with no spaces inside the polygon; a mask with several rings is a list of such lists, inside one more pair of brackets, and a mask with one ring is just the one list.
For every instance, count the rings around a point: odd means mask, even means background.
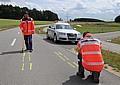
[{"label": "cloudy pale blue sky above the trees and fields", "polygon": [[59,18],[114,20],[120,14],[120,0],[0,0],[0,4],[51,10]]}]

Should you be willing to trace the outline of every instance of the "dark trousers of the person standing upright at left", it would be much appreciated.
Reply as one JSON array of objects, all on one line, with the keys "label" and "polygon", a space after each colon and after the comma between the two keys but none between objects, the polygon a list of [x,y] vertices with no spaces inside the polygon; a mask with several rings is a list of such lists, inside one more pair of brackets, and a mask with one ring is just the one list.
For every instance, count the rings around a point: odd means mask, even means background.
[{"label": "dark trousers of the person standing upright at left", "polygon": [[32,50],[32,35],[24,35],[27,50]]}]

